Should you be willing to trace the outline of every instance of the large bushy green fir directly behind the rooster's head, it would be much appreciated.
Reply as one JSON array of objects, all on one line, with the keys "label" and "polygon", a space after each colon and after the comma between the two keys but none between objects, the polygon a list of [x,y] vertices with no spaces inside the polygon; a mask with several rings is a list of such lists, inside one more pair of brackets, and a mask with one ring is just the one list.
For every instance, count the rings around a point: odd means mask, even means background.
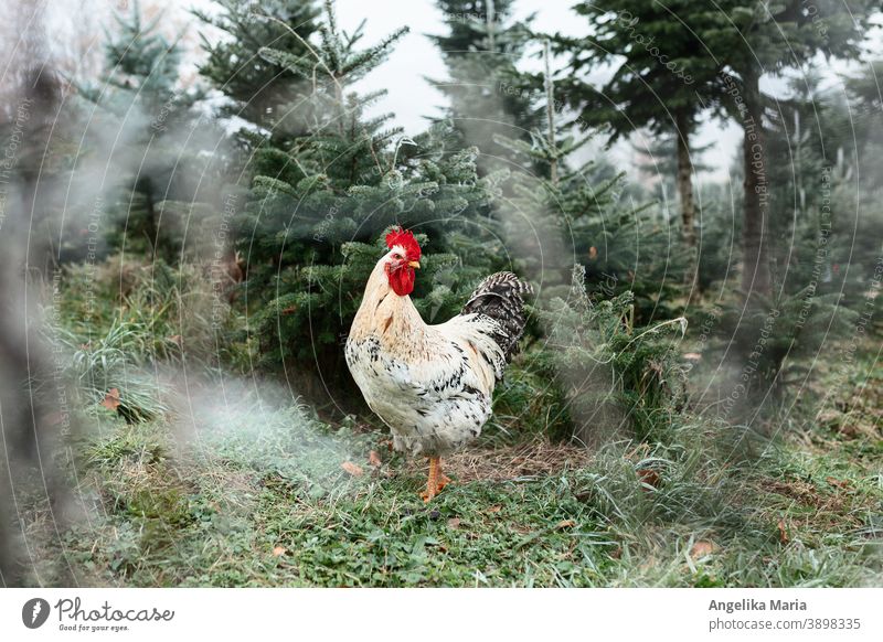
[{"label": "large bushy green fir directly behind the rooster's head", "polygon": [[309,79],[304,107],[310,117],[302,136],[257,150],[251,199],[235,232],[248,264],[246,303],[256,310],[263,362],[343,384],[341,342],[384,233],[393,225],[416,233],[424,268],[415,299],[424,318],[438,322],[502,256],[492,243],[481,244],[499,178],[478,178],[475,149],[451,153],[444,124],[408,139],[387,127],[389,115],[365,116],[383,92],[349,90],[406,30],[360,49],[361,29],[340,30],[330,2],[306,56],[260,50],[292,77]]}]

